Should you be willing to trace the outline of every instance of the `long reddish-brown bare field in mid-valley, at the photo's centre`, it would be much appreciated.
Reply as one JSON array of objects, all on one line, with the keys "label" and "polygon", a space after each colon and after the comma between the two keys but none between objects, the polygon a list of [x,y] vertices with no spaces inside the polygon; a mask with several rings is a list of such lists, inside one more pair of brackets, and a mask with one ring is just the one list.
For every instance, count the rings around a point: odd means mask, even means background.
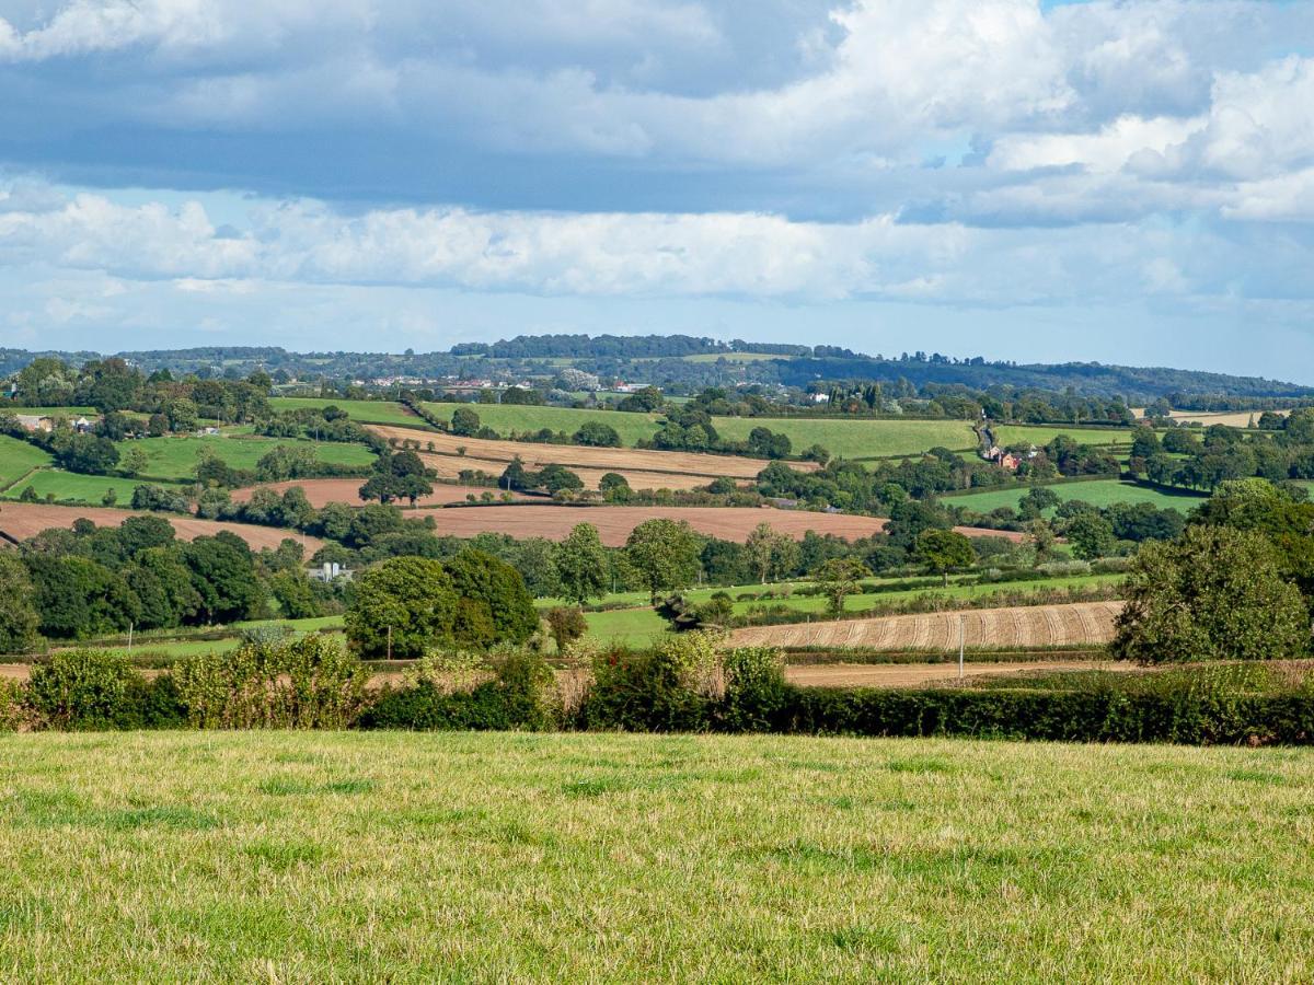
[{"label": "long reddish-brown bare field in mid-valley, at the photo's centre", "polygon": [[[721,540],[745,541],[759,523],[769,523],[795,540],[808,531],[832,533],[845,540],[857,540],[880,533],[886,520],[876,516],[848,516],[845,514],[819,514],[805,510],[736,508],[724,506],[481,506],[465,510],[440,510],[434,514],[438,533],[473,537],[476,533],[506,533],[511,537],[547,537],[564,540],[578,523],[591,523],[598,528],[602,542],[620,546],[625,537],[644,520],[664,516],[687,520],[699,533]],[[968,536],[1021,536],[1001,531],[978,531],[961,527]]]}]

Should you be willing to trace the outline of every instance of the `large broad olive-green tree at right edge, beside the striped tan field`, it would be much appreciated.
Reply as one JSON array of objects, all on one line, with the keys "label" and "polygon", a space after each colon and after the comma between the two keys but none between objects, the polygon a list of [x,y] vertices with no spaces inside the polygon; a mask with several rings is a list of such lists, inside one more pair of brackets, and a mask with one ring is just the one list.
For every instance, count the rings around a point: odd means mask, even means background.
[{"label": "large broad olive-green tree at right edge, beside the striped tan field", "polygon": [[1141,549],[1113,653],[1141,663],[1255,661],[1309,650],[1309,611],[1263,535],[1188,527]]}]

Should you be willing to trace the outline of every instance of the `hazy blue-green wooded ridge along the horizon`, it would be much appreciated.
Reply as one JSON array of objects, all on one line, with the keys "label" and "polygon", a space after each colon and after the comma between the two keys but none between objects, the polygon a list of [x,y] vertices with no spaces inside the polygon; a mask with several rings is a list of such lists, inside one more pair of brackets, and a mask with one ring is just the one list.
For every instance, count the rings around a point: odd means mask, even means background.
[{"label": "hazy blue-green wooded ridge along the horizon", "polygon": [[[757,353],[735,360],[735,353]],[[1314,398],[1314,386],[1259,377],[1202,373],[1166,366],[1114,366],[1100,362],[1017,364],[982,356],[955,359],[916,352],[895,357],[867,356],[833,345],[790,345],[720,341],[691,335],[522,335],[493,343],[461,343],[447,352],[288,352],[280,347],[210,345],[152,349],[118,355],[146,372],[170,369],[202,376],[244,376],[254,369],[284,369],[304,380],[376,380],[381,377],[551,376],[574,365],[603,378],[683,387],[782,383],[808,386],[821,381],[907,381],[962,385],[974,390],[1010,387],[1063,391],[1084,397],[1122,397],[1150,403],[1160,397],[1198,403],[1204,397],[1255,401]],[[0,349],[0,374],[21,369],[37,356],[81,364],[92,352],[25,352]],[[724,356],[725,359],[719,359]],[[765,359],[763,359],[765,356]],[[696,357],[696,359],[695,359]]]}]

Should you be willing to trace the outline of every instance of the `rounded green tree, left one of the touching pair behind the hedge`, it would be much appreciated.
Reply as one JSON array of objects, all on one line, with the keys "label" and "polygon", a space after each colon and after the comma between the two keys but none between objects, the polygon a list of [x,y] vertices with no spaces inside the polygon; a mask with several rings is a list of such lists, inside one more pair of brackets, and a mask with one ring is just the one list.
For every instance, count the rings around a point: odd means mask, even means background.
[{"label": "rounded green tree, left one of the touching pair behind the hedge", "polygon": [[347,641],[364,658],[423,657],[451,642],[456,592],[438,561],[398,557],[365,571],[343,616]]}]

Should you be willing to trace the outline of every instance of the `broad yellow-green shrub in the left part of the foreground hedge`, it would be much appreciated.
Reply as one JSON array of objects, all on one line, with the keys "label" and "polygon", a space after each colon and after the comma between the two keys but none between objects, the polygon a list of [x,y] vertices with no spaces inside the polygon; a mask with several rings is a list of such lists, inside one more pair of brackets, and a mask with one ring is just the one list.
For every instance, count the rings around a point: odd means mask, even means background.
[{"label": "broad yellow-green shrub in the left part of the foreground hedge", "polygon": [[175,678],[197,728],[342,729],[364,707],[369,672],[335,641],[311,634],[197,657]]}]

